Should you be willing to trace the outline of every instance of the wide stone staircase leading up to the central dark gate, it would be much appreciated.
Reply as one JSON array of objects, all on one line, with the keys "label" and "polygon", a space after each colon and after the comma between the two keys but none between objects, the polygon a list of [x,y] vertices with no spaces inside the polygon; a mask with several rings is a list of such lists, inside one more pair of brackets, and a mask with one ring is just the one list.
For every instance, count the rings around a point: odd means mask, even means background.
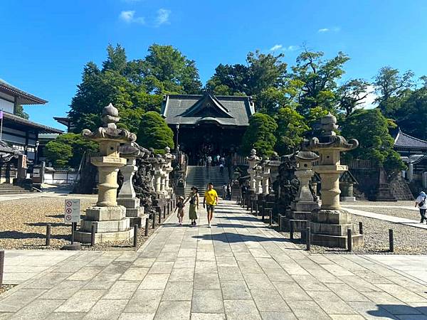
[{"label": "wide stone staircase leading up to the central dark gate", "polygon": [[209,181],[206,181],[206,166],[188,166],[185,195],[188,196],[191,187],[195,186],[199,189],[199,195],[202,197],[209,182],[214,183],[214,188],[218,192],[218,196],[221,196],[221,187],[223,183],[228,183],[227,169],[224,168],[223,174],[221,174],[219,166],[212,166],[210,169]]}]

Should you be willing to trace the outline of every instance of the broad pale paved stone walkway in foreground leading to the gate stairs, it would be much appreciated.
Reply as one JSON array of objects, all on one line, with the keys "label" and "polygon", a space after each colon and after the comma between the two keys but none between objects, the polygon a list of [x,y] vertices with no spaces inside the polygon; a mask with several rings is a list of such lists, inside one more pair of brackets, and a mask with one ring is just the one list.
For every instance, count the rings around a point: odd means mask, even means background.
[{"label": "broad pale paved stone walkway in foreground leading to the gate stairs", "polygon": [[78,252],[1,295],[0,319],[427,319],[426,256],[310,255],[226,201],[199,223]]}]

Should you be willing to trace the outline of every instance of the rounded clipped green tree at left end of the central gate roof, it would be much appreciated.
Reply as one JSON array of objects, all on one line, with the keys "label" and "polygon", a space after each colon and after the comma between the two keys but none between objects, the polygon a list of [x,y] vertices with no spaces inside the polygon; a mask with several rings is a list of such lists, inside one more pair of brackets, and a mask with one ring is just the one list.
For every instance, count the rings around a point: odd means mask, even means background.
[{"label": "rounded clipped green tree at left end of the central gate roof", "polygon": [[174,149],[174,132],[157,112],[149,111],[142,115],[139,122],[137,142],[144,148],[154,148],[158,153],[169,146]]}]

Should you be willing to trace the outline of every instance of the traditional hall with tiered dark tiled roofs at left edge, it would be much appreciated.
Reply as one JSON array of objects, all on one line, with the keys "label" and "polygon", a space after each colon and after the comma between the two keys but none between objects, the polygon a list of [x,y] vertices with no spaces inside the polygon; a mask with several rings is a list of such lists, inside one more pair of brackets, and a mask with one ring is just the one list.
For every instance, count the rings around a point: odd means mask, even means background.
[{"label": "traditional hall with tiered dark tiled roofs at left edge", "polygon": [[16,115],[19,105],[44,105],[43,100],[0,79],[0,110],[3,126],[0,139],[0,183],[12,183],[19,169],[37,161],[38,134],[60,134],[61,130]]}]

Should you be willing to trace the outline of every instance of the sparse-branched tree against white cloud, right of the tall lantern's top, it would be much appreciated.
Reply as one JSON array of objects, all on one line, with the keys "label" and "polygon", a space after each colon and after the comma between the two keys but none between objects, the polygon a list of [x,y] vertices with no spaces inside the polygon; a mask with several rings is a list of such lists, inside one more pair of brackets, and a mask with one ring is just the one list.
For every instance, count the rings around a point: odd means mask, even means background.
[{"label": "sparse-branched tree against white cloud, right of the tall lantern's top", "polygon": [[363,79],[352,79],[344,83],[337,90],[339,110],[348,117],[367,98],[369,82]]}]

